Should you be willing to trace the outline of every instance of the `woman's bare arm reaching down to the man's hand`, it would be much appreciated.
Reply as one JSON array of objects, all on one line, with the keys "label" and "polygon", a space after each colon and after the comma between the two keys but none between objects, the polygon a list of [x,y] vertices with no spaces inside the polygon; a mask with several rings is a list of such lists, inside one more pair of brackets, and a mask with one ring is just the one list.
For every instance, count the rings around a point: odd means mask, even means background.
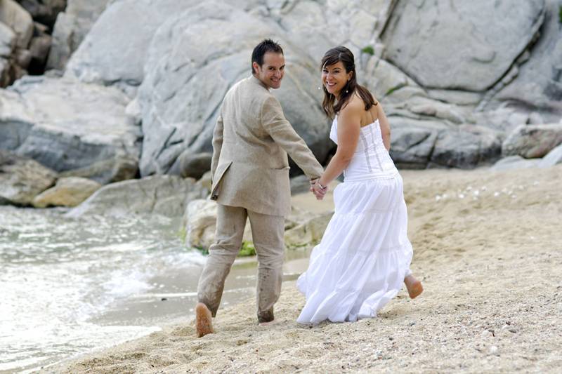
[{"label": "woman's bare arm reaching down to the man's hand", "polygon": [[354,100],[344,109],[341,109],[338,116],[338,147],[336,154],[329,161],[324,174],[320,177],[320,185],[326,186],[336,179],[353,158],[359,141],[362,111],[365,111],[365,108],[362,107],[362,101],[360,100]]}]

